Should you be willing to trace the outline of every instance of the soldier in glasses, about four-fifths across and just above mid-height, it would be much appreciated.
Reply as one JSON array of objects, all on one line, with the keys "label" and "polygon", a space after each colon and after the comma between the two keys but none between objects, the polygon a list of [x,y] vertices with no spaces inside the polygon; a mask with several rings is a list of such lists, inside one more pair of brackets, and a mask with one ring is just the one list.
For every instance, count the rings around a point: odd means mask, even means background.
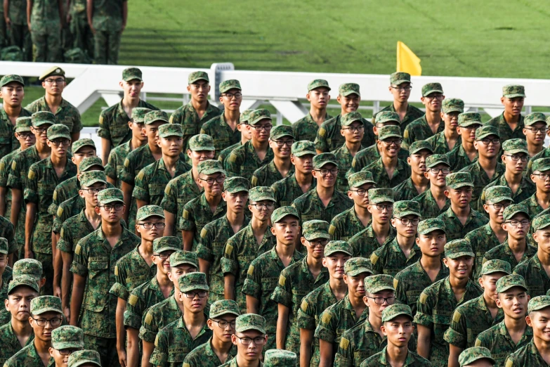
[{"label": "soldier in glasses, about four-fifths across and just above mid-height", "polygon": [[436,218],[449,209],[451,201],[445,196],[445,178],[450,172],[450,162],[446,155],[434,154],[426,157],[424,177],[428,179],[430,186],[424,193],[412,199],[420,203],[422,218]]}]

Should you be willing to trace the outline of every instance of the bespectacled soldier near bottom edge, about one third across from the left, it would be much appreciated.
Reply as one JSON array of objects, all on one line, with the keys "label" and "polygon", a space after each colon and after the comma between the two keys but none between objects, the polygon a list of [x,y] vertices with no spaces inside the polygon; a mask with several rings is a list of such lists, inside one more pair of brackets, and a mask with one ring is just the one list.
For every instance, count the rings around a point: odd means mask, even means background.
[{"label": "bespectacled soldier near bottom edge, about one third across from the left", "polygon": [[181,366],[189,352],[212,337],[212,330],[207,324],[207,275],[185,274],[178,278],[178,285],[183,315],[157,334],[155,351],[150,359],[153,366]]}]

